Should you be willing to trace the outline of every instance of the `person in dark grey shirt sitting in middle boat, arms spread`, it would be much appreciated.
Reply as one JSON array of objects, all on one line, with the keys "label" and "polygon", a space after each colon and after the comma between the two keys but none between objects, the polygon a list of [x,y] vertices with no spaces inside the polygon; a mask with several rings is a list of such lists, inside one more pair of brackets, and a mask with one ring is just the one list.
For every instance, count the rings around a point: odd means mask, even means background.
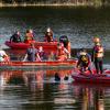
[{"label": "person in dark grey shirt sitting in middle boat, arms spread", "polygon": [[38,51],[34,47],[34,44],[33,43],[26,50],[26,54],[24,56],[23,62],[25,62],[25,61],[28,61],[28,62],[40,61],[41,62],[41,57],[38,55]]}]

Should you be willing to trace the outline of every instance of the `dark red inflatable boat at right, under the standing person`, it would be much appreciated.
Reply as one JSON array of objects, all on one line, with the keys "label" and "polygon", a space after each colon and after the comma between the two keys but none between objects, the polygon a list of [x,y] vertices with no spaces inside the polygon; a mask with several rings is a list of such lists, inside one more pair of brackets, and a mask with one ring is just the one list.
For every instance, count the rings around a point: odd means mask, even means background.
[{"label": "dark red inflatable boat at right, under the standing person", "polygon": [[73,78],[77,82],[90,82],[90,84],[110,84],[110,70],[105,70],[102,75],[100,74],[74,74]]}]

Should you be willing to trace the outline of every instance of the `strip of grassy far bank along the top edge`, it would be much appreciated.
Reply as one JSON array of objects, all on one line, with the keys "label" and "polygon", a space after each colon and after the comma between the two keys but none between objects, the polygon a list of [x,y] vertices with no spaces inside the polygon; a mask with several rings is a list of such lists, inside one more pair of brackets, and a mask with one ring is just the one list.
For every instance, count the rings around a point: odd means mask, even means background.
[{"label": "strip of grassy far bank along the top edge", "polygon": [[84,4],[109,6],[110,0],[0,0],[1,4]]}]

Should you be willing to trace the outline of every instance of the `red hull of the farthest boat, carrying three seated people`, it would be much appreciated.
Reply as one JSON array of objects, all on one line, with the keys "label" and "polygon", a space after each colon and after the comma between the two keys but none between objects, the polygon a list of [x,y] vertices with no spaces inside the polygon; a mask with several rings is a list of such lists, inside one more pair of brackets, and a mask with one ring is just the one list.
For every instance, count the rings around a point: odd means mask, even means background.
[{"label": "red hull of the farthest boat, carrying three seated people", "polygon": [[[34,42],[35,47],[42,46],[44,50],[56,50],[58,42]],[[11,48],[18,48],[18,50],[25,50],[30,46],[30,43],[14,43],[10,41],[6,41],[6,45]]]}]

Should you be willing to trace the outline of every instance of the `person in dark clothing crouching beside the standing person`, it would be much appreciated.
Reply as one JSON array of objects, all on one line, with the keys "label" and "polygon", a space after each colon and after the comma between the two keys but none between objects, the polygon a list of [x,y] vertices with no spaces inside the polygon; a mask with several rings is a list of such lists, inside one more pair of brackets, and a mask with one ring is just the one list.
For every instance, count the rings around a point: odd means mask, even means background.
[{"label": "person in dark clothing crouching beside the standing person", "polygon": [[90,74],[92,74],[90,63],[90,55],[87,53],[85,48],[81,48],[78,56],[77,67],[80,69],[81,73],[89,70]]}]

